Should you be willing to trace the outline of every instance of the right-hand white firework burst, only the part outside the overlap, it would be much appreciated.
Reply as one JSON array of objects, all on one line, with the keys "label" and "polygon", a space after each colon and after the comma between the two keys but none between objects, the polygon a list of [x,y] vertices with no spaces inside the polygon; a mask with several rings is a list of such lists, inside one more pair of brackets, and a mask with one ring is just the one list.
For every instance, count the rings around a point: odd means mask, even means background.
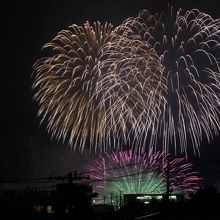
[{"label": "right-hand white firework burst, only the part outside the overlap", "polygon": [[153,15],[143,10],[116,32],[146,41],[162,65],[166,102],[161,102],[154,131],[142,129],[140,138],[153,146],[162,139],[166,151],[180,145],[187,155],[186,147],[192,145],[199,153],[203,137],[210,141],[220,129],[220,19],[196,9],[184,13],[171,7],[167,14]]}]

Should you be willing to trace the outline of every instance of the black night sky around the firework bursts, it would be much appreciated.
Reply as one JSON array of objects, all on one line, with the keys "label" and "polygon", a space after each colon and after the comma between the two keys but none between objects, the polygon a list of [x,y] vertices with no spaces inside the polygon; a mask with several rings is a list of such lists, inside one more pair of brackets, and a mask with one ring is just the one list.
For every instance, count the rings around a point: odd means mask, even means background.
[{"label": "black night sky around the firework bursts", "polygon": [[[199,10],[220,17],[219,0],[49,0],[18,1],[2,8],[3,62],[1,64],[2,144],[0,178],[47,177],[79,170],[92,157],[72,152],[69,147],[50,140],[39,126],[37,106],[32,100],[31,72],[40,57],[41,47],[62,29],[85,21],[108,21],[114,26],[136,16],[141,9],[160,12],[168,2],[182,9]],[[207,182],[220,189],[220,138],[204,142],[201,158],[195,160],[198,171]],[[0,183],[1,186],[1,183]]]}]

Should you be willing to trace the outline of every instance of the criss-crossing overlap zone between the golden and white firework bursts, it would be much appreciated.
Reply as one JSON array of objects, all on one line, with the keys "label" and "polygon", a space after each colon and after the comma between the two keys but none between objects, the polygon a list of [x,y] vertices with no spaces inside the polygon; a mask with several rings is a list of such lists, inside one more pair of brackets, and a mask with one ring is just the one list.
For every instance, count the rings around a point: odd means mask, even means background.
[{"label": "criss-crossing overlap zone between the golden and white firework bursts", "polygon": [[[102,48],[107,62],[98,66],[104,74],[97,84],[97,94],[102,94],[100,104],[109,104],[106,109],[107,124],[114,127],[115,133],[122,131],[120,145],[135,137],[142,124],[153,123],[158,117],[161,91],[160,63],[156,53],[138,38],[117,37],[111,44]],[[164,101],[164,100],[163,100]],[[113,120],[112,122],[110,122]],[[108,123],[108,121],[110,123]],[[110,129],[111,131],[111,129]],[[111,134],[109,133],[109,139]],[[122,141],[123,140],[123,141]]]}]

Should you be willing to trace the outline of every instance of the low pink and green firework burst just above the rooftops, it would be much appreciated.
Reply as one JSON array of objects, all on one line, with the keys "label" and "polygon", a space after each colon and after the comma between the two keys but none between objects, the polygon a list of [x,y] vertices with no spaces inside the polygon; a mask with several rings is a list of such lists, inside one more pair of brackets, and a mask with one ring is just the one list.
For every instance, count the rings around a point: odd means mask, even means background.
[{"label": "low pink and green firework burst just above the rooftops", "polygon": [[195,192],[201,179],[193,171],[191,163],[185,158],[172,159],[165,152],[149,154],[134,153],[134,151],[105,153],[99,156],[93,164],[86,167],[95,190],[101,196],[110,193],[123,194],[148,194],[166,192],[166,178],[170,172],[171,193],[182,193],[187,198]]}]

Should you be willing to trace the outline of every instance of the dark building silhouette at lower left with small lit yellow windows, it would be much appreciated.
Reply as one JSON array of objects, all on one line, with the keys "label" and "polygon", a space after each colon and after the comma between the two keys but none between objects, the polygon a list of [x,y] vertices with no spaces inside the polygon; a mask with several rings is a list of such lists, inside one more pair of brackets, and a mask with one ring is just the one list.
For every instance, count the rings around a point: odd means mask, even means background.
[{"label": "dark building silhouette at lower left with small lit yellow windows", "polygon": [[70,172],[63,179],[67,182],[56,184],[52,190],[26,188],[1,191],[1,213],[16,217],[73,216],[91,213],[92,198],[97,194],[88,183],[88,177],[77,175],[76,172],[73,175]]}]

